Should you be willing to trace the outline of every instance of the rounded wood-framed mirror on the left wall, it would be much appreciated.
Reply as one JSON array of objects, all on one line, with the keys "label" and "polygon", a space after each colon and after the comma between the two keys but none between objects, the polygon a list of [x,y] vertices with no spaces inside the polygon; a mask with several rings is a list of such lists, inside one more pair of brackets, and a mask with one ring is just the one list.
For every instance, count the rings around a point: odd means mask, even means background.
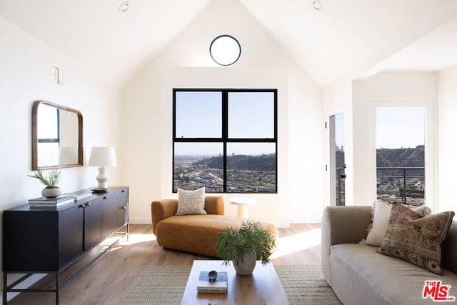
[{"label": "rounded wood-framed mirror on the left wall", "polygon": [[32,171],[84,165],[81,111],[35,101],[31,121]]}]

